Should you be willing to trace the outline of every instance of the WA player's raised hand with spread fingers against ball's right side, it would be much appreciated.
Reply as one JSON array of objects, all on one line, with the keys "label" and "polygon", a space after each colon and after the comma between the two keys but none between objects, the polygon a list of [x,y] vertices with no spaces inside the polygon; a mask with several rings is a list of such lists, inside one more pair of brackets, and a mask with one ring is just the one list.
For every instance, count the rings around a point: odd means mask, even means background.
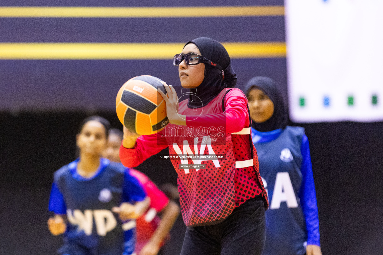
[{"label": "WA player's raised hand with spread fingers against ball's right side", "polygon": [[166,115],[169,122],[175,125],[186,125],[186,116],[178,114],[178,96],[172,85],[164,84],[167,94],[165,95],[160,89],[158,93],[166,102]]}]

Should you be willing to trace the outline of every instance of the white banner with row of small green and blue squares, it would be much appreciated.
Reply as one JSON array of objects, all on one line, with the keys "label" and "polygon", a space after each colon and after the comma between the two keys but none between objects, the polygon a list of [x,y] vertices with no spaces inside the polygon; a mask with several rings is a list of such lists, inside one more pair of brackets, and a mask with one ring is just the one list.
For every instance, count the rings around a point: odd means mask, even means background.
[{"label": "white banner with row of small green and blue squares", "polygon": [[383,120],[383,0],[285,0],[290,118]]}]

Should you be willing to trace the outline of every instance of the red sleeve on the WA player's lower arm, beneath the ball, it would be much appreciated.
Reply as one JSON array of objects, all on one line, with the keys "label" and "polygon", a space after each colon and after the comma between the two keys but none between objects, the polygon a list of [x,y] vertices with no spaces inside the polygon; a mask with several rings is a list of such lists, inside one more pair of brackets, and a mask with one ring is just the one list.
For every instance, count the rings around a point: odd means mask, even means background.
[{"label": "red sleeve on the WA player's lower arm, beneath the ball", "polygon": [[167,148],[166,138],[162,136],[163,130],[153,135],[141,135],[136,146],[132,149],[120,146],[121,163],[126,167],[135,167],[163,149]]}]

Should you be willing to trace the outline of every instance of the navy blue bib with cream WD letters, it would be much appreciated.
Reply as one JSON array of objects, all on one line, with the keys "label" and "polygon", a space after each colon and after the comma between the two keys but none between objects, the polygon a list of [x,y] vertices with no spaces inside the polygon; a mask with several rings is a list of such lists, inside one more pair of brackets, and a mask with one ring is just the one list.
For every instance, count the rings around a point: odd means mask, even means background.
[{"label": "navy blue bib with cream WD letters", "polygon": [[62,252],[69,249],[79,250],[79,254],[122,254],[121,221],[111,209],[121,204],[125,167],[112,162],[91,179],[81,179],[74,174],[76,164],[62,167],[54,175],[67,206]]}]

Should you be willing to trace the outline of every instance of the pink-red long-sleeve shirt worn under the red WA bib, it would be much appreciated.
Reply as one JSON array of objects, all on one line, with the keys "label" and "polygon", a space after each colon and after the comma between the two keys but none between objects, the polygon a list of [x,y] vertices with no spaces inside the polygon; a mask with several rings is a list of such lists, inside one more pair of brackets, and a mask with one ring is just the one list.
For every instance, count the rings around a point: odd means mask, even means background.
[{"label": "pink-red long-sleeve shirt worn under the red WA bib", "polygon": [[[249,127],[250,119],[247,98],[242,91],[239,89],[228,91],[224,98],[224,109],[222,113],[202,114],[197,119],[193,118],[193,115],[187,115],[187,127],[225,127],[225,133],[235,133],[241,131],[244,127]],[[245,142],[247,141],[243,141],[243,144]],[[168,146],[166,137],[164,137],[164,130],[153,135],[142,135],[137,139],[134,148],[128,149],[121,145],[120,159],[124,166],[136,167],[150,156],[159,153]],[[243,152],[244,149],[241,146],[234,146],[235,154],[239,155]],[[254,154],[256,157],[255,149]],[[258,166],[256,168],[258,172]],[[251,198],[246,194],[252,194],[252,197],[254,197],[263,192],[262,188],[259,187],[262,184],[258,184],[256,180],[257,176],[254,171],[248,171],[246,168],[236,169],[234,175],[236,206]],[[251,185],[249,185],[249,182],[251,182]]]}]

